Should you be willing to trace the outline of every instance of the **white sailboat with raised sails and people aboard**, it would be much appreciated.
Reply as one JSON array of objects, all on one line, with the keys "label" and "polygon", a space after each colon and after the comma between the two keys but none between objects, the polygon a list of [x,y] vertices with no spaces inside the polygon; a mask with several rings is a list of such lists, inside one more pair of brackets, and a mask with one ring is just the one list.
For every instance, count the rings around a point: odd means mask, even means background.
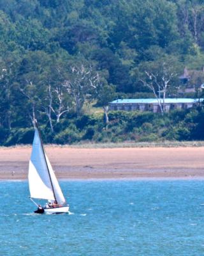
[{"label": "white sailboat with raised sails and people aboard", "polygon": [[[34,212],[46,214],[69,212],[69,205],[66,204],[54,170],[45,154],[36,120],[34,121],[34,127],[33,148],[28,174],[30,198],[38,207]],[[38,205],[33,198],[47,200],[47,203],[44,206]]]}]

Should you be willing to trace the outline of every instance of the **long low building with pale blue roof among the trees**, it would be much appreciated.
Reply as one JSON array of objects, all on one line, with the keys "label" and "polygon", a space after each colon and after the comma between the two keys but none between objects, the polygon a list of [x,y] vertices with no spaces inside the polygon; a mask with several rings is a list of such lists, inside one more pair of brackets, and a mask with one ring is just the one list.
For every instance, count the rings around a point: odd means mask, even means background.
[{"label": "long low building with pale blue roof among the trees", "polygon": [[[171,109],[187,109],[193,108],[199,104],[203,99],[165,99],[165,111]],[[161,99],[161,102],[163,100]],[[159,113],[159,103],[157,99],[118,99],[109,103],[110,111],[124,110],[124,111],[152,111]]]}]

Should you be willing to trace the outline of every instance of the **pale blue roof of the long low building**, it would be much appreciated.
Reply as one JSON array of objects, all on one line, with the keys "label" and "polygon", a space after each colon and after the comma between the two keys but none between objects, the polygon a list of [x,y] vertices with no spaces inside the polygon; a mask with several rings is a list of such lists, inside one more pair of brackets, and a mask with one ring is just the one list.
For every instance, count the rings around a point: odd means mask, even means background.
[{"label": "pale blue roof of the long low building", "polygon": [[[203,99],[200,99],[203,101]],[[161,99],[163,102],[163,99]],[[199,102],[199,99],[187,99],[187,98],[166,98],[165,103],[196,103]],[[139,104],[157,104],[157,99],[118,99],[113,100],[110,104],[131,104],[131,103],[139,103]]]}]

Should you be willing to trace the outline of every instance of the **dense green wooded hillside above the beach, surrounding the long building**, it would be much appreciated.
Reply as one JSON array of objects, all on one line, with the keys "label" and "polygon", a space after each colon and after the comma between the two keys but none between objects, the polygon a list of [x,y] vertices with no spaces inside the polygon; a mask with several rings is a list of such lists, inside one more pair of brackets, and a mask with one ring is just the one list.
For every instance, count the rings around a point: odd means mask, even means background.
[{"label": "dense green wooded hillside above the beach, surrounding the long building", "polygon": [[[166,96],[177,97],[202,84],[203,66],[202,0],[0,0],[0,145],[31,143],[34,118],[47,143],[203,140],[202,106],[106,108],[154,97],[152,76],[168,72]],[[180,84],[184,67],[198,72]]]}]

